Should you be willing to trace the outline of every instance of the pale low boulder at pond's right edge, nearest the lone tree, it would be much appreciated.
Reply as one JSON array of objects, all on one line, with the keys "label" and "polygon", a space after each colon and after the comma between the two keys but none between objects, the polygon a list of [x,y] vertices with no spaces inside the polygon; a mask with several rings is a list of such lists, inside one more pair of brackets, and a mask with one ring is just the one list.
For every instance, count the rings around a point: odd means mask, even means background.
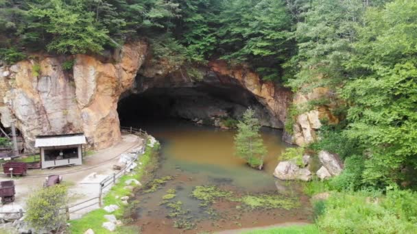
[{"label": "pale low boulder at pond's right edge, nearest the lone tree", "polygon": [[293,161],[281,161],[274,170],[274,176],[282,180],[311,180],[309,169],[300,168]]}]

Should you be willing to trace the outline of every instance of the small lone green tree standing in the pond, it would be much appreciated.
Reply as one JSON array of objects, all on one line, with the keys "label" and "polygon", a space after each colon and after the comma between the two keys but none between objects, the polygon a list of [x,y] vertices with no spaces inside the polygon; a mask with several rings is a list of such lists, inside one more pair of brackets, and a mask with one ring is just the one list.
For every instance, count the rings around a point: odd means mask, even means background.
[{"label": "small lone green tree standing in the pond", "polygon": [[237,124],[237,133],[235,135],[235,155],[246,162],[252,168],[263,167],[263,157],[267,153],[263,145],[261,134],[259,134],[259,121],[254,117],[254,110],[250,107],[243,114],[243,120]]}]

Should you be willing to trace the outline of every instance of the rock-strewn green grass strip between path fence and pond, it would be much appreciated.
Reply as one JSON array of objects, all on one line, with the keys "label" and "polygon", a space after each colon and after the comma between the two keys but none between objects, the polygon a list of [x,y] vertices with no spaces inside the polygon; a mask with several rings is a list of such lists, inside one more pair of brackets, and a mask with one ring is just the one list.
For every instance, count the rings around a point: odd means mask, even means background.
[{"label": "rock-strewn green grass strip between path fence and pond", "polygon": [[[147,174],[147,167],[152,164],[152,160],[155,158],[154,155],[159,150],[159,143],[157,142],[153,148],[147,146],[145,153],[139,157],[138,162],[141,166],[138,166],[134,169],[134,172],[131,174],[125,174],[119,178],[117,183],[110,189],[108,194],[104,196],[103,203],[104,206],[107,205],[118,205],[120,209],[117,209],[114,214],[116,218],[122,219],[123,213],[125,213],[126,209],[133,204],[130,203],[129,205],[123,205],[121,203],[120,197],[122,196],[130,196],[132,195],[132,190],[125,189],[126,184],[125,181],[128,179],[136,179],[140,181],[145,174]],[[119,198],[116,198],[118,196]],[[78,220],[71,220],[69,222],[69,233],[78,234],[84,233],[87,229],[93,229],[95,233],[106,234],[111,233],[107,229],[102,227],[103,222],[108,222],[104,215],[110,214],[104,211],[104,209],[96,209],[86,215],[82,216],[82,218]],[[130,233],[139,233],[139,230],[136,230],[135,227],[132,226],[118,226],[115,232],[112,233],[123,233],[123,234],[130,234]]]}]

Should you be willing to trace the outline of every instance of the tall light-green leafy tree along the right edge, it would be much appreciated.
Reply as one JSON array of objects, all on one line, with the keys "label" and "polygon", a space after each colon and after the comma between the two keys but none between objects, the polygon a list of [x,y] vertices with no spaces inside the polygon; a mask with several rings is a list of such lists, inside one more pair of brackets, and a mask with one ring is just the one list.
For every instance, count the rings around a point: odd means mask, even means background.
[{"label": "tall light-green leafy tree along the right edge", "polygon": [[349,103],[346,135],[365,148],[366,183],[401,183],[417,168],[417,2],[370,8],[354,48],[353,75],[339,91]]}]

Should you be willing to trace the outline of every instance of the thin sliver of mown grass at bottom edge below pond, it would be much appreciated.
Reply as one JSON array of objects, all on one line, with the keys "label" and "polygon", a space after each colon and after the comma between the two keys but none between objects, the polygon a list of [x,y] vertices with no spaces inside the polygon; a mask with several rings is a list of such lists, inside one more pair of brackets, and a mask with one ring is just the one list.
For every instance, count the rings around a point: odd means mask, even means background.
[{"label": "thin sliver of mown grass at bottom edge below pond", "polygon": [[272,229],[259,229],[254,231],[246,231],[242,234],[318,234],[320,233],[315,224],[294,225],[285,227],[276,227]]}]

